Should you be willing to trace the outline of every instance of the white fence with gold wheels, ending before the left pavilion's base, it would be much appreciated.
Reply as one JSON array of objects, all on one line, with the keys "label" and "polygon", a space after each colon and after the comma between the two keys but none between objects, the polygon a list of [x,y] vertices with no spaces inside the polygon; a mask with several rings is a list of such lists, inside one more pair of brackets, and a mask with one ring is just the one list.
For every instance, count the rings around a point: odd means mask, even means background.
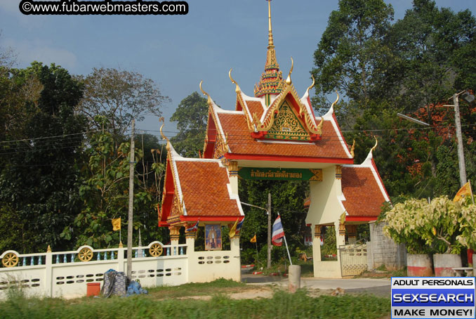
[{"label": "white fence with gold wheels, ending before the left pavilion's base", "polygon": [[[126,269],[125,247],[93,249],[79,247],[69,252],[19,254],[9,250],[0,255],[0,299],[6,289],[22,288],[41,297],[81,297],[88,282],[103,281],[109,269]],[[187,282],[187,245],[151,242],[133,247],[132,279],[141,285],[181,285]]]}]

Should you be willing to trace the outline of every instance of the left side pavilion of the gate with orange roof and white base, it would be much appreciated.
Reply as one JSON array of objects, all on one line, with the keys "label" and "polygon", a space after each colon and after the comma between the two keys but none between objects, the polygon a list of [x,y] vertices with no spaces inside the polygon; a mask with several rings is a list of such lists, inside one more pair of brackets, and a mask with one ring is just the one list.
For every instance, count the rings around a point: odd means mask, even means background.
[{"label": "left side pavilion of the gate with orange roof and white base", "polygon": [[[159,209],[159,226],[170,230],[171,244],[179,244],[180,228],[187,243],[187,282],[209,282],[218,278],[240,281],[239,235],[230,238],[230,250],[222,250],[222,226],[231,228],[244,219],[242,205],[232,193],[229,171],[220,159],[194,159],[178,155],[167,141],[167,166]],[[195,224],[208,230],[209,250],[196,252]],[[206,233],[207,235],[207,233]],[[210,245],[207,245],[210,244]]]}]

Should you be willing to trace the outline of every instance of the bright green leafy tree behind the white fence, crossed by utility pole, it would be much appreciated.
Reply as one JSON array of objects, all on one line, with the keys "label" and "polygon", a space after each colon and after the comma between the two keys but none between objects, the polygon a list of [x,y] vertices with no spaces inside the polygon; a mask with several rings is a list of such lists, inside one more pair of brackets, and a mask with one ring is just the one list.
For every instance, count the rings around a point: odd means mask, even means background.
[{"label": "bright green leafy tree behind the white fence, crossed by utility pole", "polygon": [[[96,117],[96,122],[106,121]],[[77,214],[72,225],[64,228],[61,237],[73,240],[74,245],[90,245],[105,248],[126,242],[127,232],[112,230],[112,219],[121,218],[122,224],[128,220],[128,180],[129,180],[129,143],[121,143],[114,150],[114,138],[107,131],[100,131],[91,136],[91,148],[86,150],[89,158],[88,173],[79,188],[83,208]],[[135,159],[140,162],[143,152],[135,149]],[[157,227],[157,196],[147,185],[140,183],[135,175],[133,214],[134,228],[146,228],[143,243],[161,240],[163,232]],[[134,235],[134,245],[138,235]]]}]

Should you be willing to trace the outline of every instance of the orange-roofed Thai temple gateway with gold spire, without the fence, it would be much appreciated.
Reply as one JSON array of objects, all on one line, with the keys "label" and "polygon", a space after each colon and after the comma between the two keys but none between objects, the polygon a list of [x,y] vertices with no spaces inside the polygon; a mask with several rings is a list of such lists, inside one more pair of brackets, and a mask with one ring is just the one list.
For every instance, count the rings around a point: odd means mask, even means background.
[{"label": "orange-roofed Thai temple gateway with gold spire, without the fence", "polygon": [[[170,229],[172,244],[178,244],[180,227],[190,228],[197,221],[208,228],[232,227],[244,219],[239,177],[308,180],[311,204],[306,224],[314,230],[315,277],[341,277],[340,256],[337,261],[320,260],[322,226],[335,226],[338,247],[345,245],[346,230],[349,242],[354,242],[357,224],[376,220],[383,202],[389,201],[388,194],[372,150],[362,164],[354,164],[353,147],[345,142],[333,111],[338,98],[326,115],[316,117],[309,98],[314,83],[300,98],[291,81],[292,65],[283,79],[276,60],[269,1],[268,15],[265,72],[254,96],[242,92],[230,70],[236,105],[234,111],[223,110],[200,83],[209,105],[203,155],[180,157],[167,141],[159,226]],[[239,280],[239,235],[231,238],[227,260],[222,259],[223,252],[192,252],[194,233],[185,235],[189,282],[220,277]]]}]

